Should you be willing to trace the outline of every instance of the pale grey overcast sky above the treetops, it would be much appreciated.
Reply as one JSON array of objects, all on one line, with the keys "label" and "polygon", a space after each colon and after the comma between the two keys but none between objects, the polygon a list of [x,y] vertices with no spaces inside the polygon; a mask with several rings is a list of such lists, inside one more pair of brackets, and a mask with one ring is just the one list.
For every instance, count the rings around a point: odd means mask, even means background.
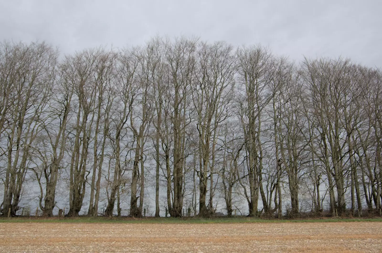
[{"label": "pale grey overcast sky above the treetops", "polygon": [[0,0],[0,40],[72,53],[159,34],[269,46],[276,54],[350,57],[382,67],[381,0]]}]

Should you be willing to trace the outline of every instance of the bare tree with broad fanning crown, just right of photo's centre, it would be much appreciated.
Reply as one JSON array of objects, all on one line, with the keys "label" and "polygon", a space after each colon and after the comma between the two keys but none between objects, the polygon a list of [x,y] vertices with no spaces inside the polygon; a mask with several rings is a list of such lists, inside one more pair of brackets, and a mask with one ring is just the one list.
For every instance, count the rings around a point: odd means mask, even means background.
[{"label": "bare tree with broad fanning crown, just right of photo's centre", "polygon": [[232,46],[225,42],[201,42],[195,68],[197,81],[192,86],[196,127],[199,134],[199,216],[213,213],[212,193],[206,205],[208,178],[213,183],[215,147],[219,126],[229,116],[235,74]]}]

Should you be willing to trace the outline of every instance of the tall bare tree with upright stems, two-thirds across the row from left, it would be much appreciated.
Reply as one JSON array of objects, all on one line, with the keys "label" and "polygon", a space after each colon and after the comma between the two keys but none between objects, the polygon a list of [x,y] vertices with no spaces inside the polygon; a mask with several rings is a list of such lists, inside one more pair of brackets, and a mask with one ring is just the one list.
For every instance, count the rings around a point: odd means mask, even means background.
[{"label": "tall bare tree with upright stems, two-thirds across the row from left", "polygon": [[244,195],[248,201],[249,216],[257,216],[257,201],[259,191],[267,210],[267,200],[262,186],[262,172],[264,159],[264,139],[262,137],[262,119],[265,107],[271,101],[273,94],[269,92],[270,76],[269,60],[271,54],[268,49],[258,46],[241,47],[236,51],[238,58],[238,117],[243,129],[246,167],[248,174],[249,195],[243,181]]}]

